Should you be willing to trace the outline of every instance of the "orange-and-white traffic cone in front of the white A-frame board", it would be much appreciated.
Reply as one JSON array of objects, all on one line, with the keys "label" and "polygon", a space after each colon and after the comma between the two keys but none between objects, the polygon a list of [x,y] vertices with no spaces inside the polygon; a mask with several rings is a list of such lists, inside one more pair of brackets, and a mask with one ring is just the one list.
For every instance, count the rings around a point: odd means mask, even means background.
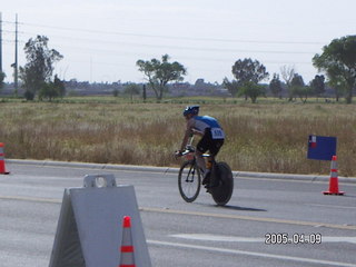
[{"label": "orange-and-white traffic cone in front of the white A-frame board", "polygon": [[122,241],[121,241],[121,257],[119,267],[136,267],[134,257],[134,245],[131,235],[131,218],[130,216],[123,217],[122,224]]}]

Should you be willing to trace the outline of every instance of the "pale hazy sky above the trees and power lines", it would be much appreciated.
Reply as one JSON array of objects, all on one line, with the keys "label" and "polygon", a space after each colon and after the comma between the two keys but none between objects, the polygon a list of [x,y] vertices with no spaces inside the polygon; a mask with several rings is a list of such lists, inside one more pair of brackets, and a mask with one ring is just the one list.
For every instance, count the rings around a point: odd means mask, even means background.
[{"label": "pale hazy sky above the trees and power lines", "polygon": [[145,82],[136,61],[167,53],[190,83],[231,80],[245,58],[270,78],[294,68],[307,83],[319,73],[313,57],[356,34],[355,10],[355,0],[0,0],[2,69],[12,81],[18,14],[19,66],[24,43],[46,36],[63,56],[55,73],[65,80]]}]

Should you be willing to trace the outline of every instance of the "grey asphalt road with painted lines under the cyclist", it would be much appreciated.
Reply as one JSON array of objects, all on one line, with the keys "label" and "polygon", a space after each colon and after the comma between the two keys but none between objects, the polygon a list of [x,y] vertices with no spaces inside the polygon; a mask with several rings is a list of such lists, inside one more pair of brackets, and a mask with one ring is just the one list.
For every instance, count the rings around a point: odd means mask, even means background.
[{"label": "grey asphalt road with painted lines under the cyclist", "polygon": [[[81,187],[87,174],[113,174],[118,184],[135,186],[152,266],[356,266],[355,184],[339,185],[345,196],[324,196],[327,182],[238,177],[229,205],[217,207],[205,191],[186,204],[174,172],[7,168],[0,267],[48,266],[63,190]],[[266,244],[285,235],[291,244]]]}]

